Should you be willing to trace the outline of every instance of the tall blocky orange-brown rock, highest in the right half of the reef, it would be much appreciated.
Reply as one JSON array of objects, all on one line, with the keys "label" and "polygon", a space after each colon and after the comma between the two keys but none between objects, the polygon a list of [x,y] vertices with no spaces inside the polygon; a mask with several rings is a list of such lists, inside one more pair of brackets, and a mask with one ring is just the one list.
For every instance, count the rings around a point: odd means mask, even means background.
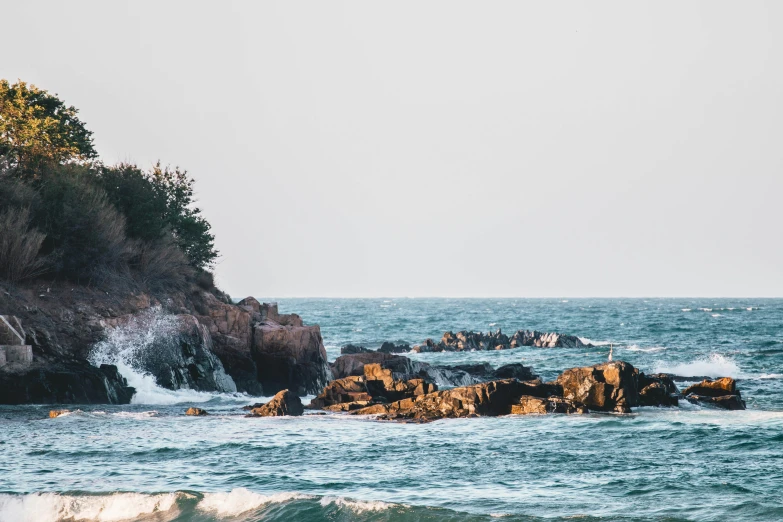
[{"label": "tall blocky orange-brown rock, highest in the right half of the reef", "polygon": [[629,413],[638,404],[637,372],[623,361],[571,368],[557,378],[563,397],[590,410]]}]

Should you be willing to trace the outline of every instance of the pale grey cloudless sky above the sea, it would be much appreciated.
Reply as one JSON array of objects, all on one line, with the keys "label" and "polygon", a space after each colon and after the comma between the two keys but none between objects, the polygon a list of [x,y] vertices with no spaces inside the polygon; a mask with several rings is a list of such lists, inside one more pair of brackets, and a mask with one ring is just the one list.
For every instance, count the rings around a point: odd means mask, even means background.
[{"label": "pale grey cloudless sky above the sea", "polygon": [[783,296],[783,2],[0,0],[235,297]]}]

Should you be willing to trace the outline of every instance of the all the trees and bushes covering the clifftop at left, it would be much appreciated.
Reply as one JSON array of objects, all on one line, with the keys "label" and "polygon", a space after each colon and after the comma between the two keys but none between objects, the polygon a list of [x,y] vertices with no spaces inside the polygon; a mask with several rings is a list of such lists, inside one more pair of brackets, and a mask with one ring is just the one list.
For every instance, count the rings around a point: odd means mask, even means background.
[{"label": "all the trees and bushes covering the clifftop at left", "polygon": [[102,163],[76,108],[0,80],[0,280],[211,287],[194,194],[179,167]]}]

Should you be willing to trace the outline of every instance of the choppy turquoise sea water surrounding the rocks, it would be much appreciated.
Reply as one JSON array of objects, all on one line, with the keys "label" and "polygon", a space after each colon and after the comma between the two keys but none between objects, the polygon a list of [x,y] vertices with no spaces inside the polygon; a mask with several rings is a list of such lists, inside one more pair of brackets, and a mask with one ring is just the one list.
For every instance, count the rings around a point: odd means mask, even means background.
[{"label": "choppy turquoise sea water surrounding the rocks", "polygon": [[[390,424],[242,416],[248,397],[145,389],[129,406],[0,407],[0,520],[783,519],[783,300],[281,299],[346,343],[520,328],[588,349],[415,355],[524,362],[544,378],[615,359],[739,379],[748,410]],[[185,417],[193,404],[206,418]]]}]

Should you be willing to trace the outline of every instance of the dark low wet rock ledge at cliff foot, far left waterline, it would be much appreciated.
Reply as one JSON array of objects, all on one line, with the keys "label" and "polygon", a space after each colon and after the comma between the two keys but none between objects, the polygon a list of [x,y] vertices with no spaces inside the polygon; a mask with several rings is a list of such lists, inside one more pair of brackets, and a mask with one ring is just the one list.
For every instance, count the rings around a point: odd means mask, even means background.
[{"label": "dark low wet rock ledge at cliff foot, far left waterline", "polygon": [[0,372],[0,404],[128,404],[135,391],[116,366],[96,368],[87,361]]}]

